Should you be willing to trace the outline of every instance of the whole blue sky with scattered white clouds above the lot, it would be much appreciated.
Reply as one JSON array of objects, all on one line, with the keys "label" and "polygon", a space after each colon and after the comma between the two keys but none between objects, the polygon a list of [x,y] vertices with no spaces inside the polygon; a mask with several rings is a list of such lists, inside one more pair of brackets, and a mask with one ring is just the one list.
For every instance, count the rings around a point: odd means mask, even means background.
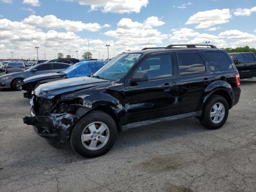
[{"label": "whole blue sky with scattered white clouds above the lot", "polygon": [[[89,50],[106,58],[172,43],[256,47],[255,0],[0,0],[0,58]],[[107,24],[107,25],[106,25]]]}]

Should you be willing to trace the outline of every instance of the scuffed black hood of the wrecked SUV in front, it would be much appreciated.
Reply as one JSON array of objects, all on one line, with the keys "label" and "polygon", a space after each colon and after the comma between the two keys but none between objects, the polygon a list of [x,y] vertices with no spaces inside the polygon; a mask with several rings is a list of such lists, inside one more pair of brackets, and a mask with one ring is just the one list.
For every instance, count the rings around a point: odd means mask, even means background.
[{"label": "scuffed black hood of the wrecked SUV in front", "polygon": [[90,78],[87,76],[74,77],[39,85],[34,94],[43,98],[53,98],[58,94],[81,90],[110,83],[108,80]]}]

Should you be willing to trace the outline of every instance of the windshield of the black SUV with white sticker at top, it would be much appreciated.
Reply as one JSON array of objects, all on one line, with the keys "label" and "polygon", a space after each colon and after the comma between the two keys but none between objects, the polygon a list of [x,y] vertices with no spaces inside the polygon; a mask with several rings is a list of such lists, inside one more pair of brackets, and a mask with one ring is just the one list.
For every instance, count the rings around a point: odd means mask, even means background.
[{"label": "windshield of the black SUV with white sticker at top", "polygon": [[120,54],[94,73],[106,80],[118,80],[136,63],[141,54]]}]

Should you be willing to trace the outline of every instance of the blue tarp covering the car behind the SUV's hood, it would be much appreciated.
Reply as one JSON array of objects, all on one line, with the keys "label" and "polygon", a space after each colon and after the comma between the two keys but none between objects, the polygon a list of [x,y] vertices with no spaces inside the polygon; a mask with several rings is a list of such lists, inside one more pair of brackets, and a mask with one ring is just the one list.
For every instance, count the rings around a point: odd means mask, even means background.
[{"label": "blue tarp covering the car behind the SUV's hood", "polygon": [[106,63],[107,61],[82,61],[66,68],[62,72],[66,73],[68,78],[86,76],[94,74]]}]

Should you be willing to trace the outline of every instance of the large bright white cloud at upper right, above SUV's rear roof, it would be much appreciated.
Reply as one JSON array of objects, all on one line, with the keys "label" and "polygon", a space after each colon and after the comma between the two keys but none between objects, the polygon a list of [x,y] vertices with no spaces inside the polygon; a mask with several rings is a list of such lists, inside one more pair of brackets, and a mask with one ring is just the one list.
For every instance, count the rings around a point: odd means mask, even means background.
[{"label": "large bright white cloud at upper right, above SUV's rear roof", "polygon": [[231,18],[229,9],[214,9],[202,12],[190,16],[186,24],[198,24],[196,28],[209,28],[216,24],[224,24],[229,22]]}]

